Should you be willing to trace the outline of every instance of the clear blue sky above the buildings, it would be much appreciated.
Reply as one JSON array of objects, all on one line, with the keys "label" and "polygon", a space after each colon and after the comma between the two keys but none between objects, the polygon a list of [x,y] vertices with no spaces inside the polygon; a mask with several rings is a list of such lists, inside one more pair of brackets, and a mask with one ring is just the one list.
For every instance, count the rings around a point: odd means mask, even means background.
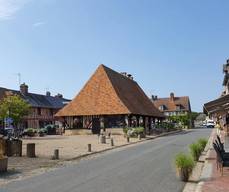
[{"label": "clear blue sky above the buildings", "polygon": [[227,0],[0,0],[0,86],[73,98],[100,63],[147,95],[188,95],[192,109],[222,91]]}]

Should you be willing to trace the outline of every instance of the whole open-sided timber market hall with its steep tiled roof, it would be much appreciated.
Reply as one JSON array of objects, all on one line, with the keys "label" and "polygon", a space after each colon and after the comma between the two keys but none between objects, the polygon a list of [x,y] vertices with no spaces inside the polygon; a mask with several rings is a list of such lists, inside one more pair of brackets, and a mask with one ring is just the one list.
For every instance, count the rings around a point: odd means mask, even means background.
[{"label": "whole open-sided timber market hall with its steep tiled roof", "polygon": [[127,73],[100,65],[79,94],[57,114],[71,129],[132,127],[149,130],[152,121],[164,119],[150,99]]}]

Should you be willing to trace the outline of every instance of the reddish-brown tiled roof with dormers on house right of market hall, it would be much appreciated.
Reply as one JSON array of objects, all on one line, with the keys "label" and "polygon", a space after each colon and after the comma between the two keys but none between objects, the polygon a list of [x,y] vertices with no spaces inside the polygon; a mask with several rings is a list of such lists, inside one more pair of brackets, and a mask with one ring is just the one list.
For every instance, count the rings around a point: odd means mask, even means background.
[{"label": "reddish-brown tiled roof with dormers on house right of market hall", "polygon": [[[152,101],[153,104],[159,109],[160,106],[164,106],[163,112],[174,112],[174,111],[188,111],[191,112],[191,105],[188,96],[174,97],[172,100],[169,98],[158,98]],[[180,106],[180,109],[177,109]]]}]

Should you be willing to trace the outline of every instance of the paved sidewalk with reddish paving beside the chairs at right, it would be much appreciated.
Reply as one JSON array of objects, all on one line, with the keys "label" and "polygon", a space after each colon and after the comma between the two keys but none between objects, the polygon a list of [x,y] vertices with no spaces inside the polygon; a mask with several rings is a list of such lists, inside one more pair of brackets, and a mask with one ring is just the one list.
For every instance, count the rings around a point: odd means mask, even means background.
[{"label": "paved sidewalk with reddish paving beside the chairs at right", "polygon": [[[184,188],[184,192],[228,192],[229,191],[229,168],[224,167],[223,176],[216,166],[216,152],[212,143],[216,139],[216,129],[213,129],[209,138],[207,151],[202,157],[204,163],[198,163],[198,168],[193,171],[195,182],[189,182]],[[229,138],[221,133],[221,140],[225,144],[225,150],[229,151]]]}]

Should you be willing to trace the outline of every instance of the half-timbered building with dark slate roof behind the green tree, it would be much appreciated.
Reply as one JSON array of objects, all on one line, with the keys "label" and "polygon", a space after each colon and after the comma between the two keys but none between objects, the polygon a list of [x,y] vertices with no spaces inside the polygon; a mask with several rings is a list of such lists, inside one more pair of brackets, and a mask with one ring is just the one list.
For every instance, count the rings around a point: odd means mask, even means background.
[{"label": "half-timbered building with dark slate roof behind the green tree", "polygon": [[29,93],[25,83],[20,86],[20,91],[0,88],[0,100],[9,95],[18,95],[31,106],[28,116],[23,118],[22,128],[43,128],[47,124],[54,124],[54,114],[70,102],[61,94],[51,96],[50,92],[46,95]]}]

